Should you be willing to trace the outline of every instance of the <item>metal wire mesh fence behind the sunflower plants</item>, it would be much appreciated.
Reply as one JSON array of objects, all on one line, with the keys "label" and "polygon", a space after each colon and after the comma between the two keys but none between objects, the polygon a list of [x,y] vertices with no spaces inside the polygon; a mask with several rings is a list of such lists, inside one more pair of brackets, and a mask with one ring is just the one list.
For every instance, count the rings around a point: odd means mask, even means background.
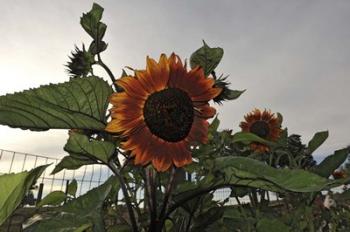
[{"label": "metal wire mesh fence behind the sunflower plants", "polygon": [[[0,149],[0,174],[23,172],[41,165],[51,164],[37,180],[37,188],[32,190],[33,195],[37,196],[39,200],[52,191],[65,191],[67,184],[73,179],[78,183],[77,196],[82,195],[104,183],[112,175],[110,169],[103,165],[85,165],[77,170],[62,170],[51,175],[55,165],[59,162],[58,158]],[[229,197],[230,193],[230,189],[217,190],[214,193],[214,199],[224,200]],[[137,195],[138,198],[142,198],[143,191]],[[249,201],[249,199],[241,200]],[[236,204],[236,200],[229,198],[227,204]]]}]

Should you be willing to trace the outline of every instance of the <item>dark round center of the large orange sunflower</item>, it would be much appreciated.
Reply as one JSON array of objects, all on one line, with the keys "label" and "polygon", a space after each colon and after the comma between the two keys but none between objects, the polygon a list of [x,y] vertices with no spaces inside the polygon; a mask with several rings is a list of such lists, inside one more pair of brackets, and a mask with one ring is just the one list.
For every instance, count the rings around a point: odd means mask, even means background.
[{"label": "dark round center of the large orange sunflower", "polygon": [[143,116],[154,135],[168,142],[178,142],[191,130],[194,118],[192,100],[180,89],[164,89],[147,98]]}]

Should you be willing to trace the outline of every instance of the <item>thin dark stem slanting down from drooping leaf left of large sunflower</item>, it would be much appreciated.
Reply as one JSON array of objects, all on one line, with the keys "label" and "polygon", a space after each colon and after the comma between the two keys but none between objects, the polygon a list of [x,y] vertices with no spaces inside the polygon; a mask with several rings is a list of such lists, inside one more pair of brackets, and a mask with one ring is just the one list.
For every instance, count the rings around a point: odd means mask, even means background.
[{"label": "thin dark stem slanting down from drooping leaf left of large sunflower", "polygon": [[133,232],[138,232],[139,230],[138,230],[138,227],[137,227],[137,222],[136,222],[134,210],[132,208],[132,204],[131,204],[131,201],[130,201],[129,193],[128,193],[128,190],[126,188],[126,184],[125,184],[124,178],[122,177],[119,169],[116,167],[116,165],[115,165],[115,163],[113,161],[108,163],[108,167],[112,170],[112,172],[119,179],[120,187],[122,188],[124,199],[125,199],[125,204],[126,204],[126,206],[128,208],[130,222],[131,222],[131,226],[132,226],[132,231]]}]

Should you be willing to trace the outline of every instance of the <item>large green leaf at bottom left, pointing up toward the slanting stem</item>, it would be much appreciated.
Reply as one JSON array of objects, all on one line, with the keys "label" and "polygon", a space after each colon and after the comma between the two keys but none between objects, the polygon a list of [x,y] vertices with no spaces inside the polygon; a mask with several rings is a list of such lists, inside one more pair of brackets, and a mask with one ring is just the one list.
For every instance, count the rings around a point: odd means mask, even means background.
[{"label": "large green leaf at bottom left, pointing up toward the slanting stem", "polygon": [[118,183],[116,177],[111,177],[99,187],[60,207],[54,217],[39,221],[25,231],[82,231],[81,228],[90,227],[93,231],[105,231],[102,206],[116,183]]}]

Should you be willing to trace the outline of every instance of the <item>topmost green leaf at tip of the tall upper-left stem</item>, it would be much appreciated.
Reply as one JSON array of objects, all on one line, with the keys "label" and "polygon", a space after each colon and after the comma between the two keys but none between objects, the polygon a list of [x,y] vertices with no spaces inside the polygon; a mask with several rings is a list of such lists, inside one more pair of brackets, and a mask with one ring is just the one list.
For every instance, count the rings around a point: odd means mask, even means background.
[{"label": "topmost green leaf at tip of the tall upper-left stem", "polygon": [[107,29],[106,24],[100,22],[102,14],[103,8],[94,3],[92,9],[80,18],[81,26],[95,41],[101,41]]}]

